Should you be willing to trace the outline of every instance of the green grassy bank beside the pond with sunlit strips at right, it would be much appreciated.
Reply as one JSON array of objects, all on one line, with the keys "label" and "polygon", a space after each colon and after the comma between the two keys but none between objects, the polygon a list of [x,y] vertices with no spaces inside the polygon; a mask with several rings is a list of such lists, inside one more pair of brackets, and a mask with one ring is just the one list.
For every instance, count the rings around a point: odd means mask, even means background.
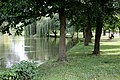
[{"label": "green grassy bank beside the pond with sunlit strips at right", "polygon": [[66,64],[48,61],[36,80],[120,80],[120,38],[101,40],[101,55],[92,56],[93,44],[78,43],[67,52]]}]

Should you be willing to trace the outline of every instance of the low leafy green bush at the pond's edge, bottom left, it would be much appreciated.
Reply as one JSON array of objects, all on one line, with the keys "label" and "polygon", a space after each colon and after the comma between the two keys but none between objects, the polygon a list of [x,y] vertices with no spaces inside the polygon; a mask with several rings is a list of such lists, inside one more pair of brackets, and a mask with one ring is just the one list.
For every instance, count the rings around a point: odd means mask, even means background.
[{"label": "low leafy green bush at the pond's edge, bottom left", "polygon": [[2,80],[32,80],[37,75],[35,62],[21,61],[0,74]]}]

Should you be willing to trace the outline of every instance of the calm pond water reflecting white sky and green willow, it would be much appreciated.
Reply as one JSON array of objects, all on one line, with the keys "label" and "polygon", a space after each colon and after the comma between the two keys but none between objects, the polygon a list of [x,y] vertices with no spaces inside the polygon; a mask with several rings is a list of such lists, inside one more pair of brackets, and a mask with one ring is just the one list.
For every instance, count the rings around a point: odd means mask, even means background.
[{"label": "calm pond water reflecting white sky and green willow", "polygon": [[[67,45],[68,44],[68,45]],[[66,40],[67,49],[73,46]],[[0,36],[0,67],[11,67],[22,60],[34,60],[42,64],[58,54],[59,38]]]}]

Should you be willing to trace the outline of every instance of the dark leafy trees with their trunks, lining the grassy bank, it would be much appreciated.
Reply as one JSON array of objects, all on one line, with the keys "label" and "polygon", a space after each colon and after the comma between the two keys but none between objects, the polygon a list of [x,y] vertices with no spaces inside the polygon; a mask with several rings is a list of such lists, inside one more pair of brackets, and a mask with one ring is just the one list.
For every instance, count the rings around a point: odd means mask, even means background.
[{"label": "dark leafy trees with their trunks, lining the grassy bank", "polygon": [[[89,45],[91,41],[91,28],[96,28],[93,55],[99,55],[102,28],[105,24],[109,24],[109,19],[119,14],[119,0],[1,0],[0,7],[0,25],[4,21],[8,22],[7,26],[0,27],[1,32],[9,32],[11,27],[16,30],[17,35],[21,34],[24,26],[40,20],[42,16],[53,18],[53,15],[58,13],[60,22],[59,61],[67,60],[66,20],[69,20],[70,25],[76,29],[83,29],[85,46]],[[111,19],[110,23],[116,24],[115,20]],[[20,22],[23,24],[16,26]]]}]

